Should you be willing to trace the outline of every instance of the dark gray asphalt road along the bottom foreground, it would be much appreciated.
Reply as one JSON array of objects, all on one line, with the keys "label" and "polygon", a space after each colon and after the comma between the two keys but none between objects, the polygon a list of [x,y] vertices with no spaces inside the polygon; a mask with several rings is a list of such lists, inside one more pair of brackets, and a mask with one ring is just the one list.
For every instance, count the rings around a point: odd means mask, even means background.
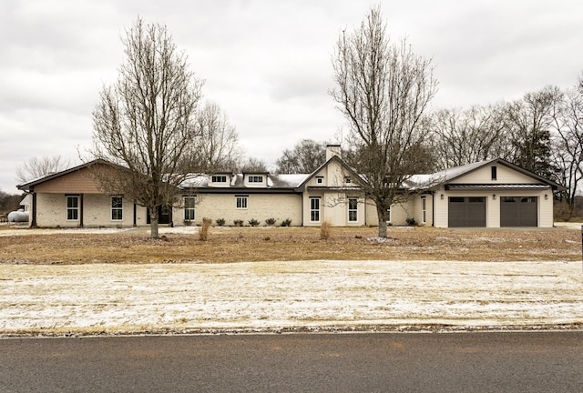
[{"label": "dark gray asphalt road along the bottom foreground", "polygon": [[0,339],[1,392],[581,392],[583,331]]}]

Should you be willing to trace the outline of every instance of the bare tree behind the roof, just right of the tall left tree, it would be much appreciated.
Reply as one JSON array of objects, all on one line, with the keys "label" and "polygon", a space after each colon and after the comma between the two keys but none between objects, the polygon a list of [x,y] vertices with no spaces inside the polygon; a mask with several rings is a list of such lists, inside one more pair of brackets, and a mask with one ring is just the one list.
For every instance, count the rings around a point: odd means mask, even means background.
[{"label": "bare tree behind the roof, just right of the tall left tree", "polygon": [[220,110],[220,106],[207,103],[203,106],[194,124],[199,138],[194,166],[207,173],[231,169],[240,162],[242,152],[235,126]]}]

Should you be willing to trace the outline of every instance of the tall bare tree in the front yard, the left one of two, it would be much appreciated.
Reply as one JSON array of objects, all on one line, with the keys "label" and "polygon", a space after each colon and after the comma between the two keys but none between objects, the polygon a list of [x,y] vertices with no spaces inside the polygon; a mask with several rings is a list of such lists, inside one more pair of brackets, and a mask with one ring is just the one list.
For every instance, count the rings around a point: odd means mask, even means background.
[{"label": "tall bare tree in the front yard, the left one of two", "polygon": [[104,86],[93,112],[97,158],[120,166],[117,176],[99,176],[107,192],[124,194],[148,207],[151,237],[159,237],[159,208],[176,203],[188,176],[180,163],[196,156],[196,115],[202,82],[189,71],[163,25],[142,19],[122,43],[126,60],[118,81]]}]

